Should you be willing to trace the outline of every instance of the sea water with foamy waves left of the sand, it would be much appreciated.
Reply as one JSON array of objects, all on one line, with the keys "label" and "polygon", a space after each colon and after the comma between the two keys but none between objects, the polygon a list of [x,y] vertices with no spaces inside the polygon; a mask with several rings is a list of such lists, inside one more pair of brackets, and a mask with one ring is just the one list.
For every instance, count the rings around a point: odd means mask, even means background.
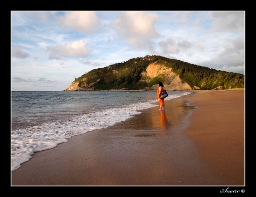
[{"label": "sea water with foamy waves left of the sand", "polygon": [[[165,100],[189,93],[168,94]],[[157,101],[156,92],[12,91],[12,170],[37,151],[125,121]]]}]

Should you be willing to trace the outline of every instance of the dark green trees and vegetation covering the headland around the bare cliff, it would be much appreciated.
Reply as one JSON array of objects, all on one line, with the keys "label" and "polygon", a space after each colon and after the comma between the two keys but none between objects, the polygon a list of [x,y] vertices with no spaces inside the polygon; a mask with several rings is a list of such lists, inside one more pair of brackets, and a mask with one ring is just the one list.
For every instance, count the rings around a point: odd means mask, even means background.
[{"label": "dark green trees and vegetation covering the headland around the bare cliff", "polygon": [[179,74],[180,79],[187,82],[190,87],[196,86],[200,87],[200,89],[214,89],[220,86],[223,89],[228,89],[229,86],[231,88],[244,87],[243,74],[217,71],[208,67],[156,55],[136,57],[123,63],[96,68],[77,79],[75,78],[74,82],[78,81],[79,87],[94,83],[90,88],[93,87],[95,90],[143,89],[144,87],[153,86],[166,77],[163,75],[155,77],[150,79],[149,83],[141,80],[141,72],[145,71],[147,66],[154,62],[172,68],[172,72]]}]

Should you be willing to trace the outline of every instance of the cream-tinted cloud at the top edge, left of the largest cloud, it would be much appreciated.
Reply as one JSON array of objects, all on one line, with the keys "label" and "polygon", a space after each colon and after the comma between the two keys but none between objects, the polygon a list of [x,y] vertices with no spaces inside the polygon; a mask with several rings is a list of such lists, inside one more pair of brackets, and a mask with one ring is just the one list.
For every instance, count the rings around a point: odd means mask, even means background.
[{"label": "cream-tinted cloud at the top edge, left of the largest cloud", "polygon": [[65,12],[64,16],[59,16],[60,25],[63,29],[70,28],[87,34],[99,29],[100,21],[93,11]]}]

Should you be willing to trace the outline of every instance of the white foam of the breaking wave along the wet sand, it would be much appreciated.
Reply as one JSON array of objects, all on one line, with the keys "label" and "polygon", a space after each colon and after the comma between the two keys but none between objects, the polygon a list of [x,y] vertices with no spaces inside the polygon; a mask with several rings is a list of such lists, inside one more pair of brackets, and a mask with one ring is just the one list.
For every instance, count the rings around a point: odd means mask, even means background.
[{"label": "white foam of the breaking wave along the wet sand", "polygon": [[[183,92],[179,95],[169,95],[165,100],[187,95]],[[20,164],[28,161],[37,151],[56,147],[74,135],[87,133],[96,129],[112,126],[117,122],[125,121],[132,115],[140,114],[137,110],[151,108],[157,105],[149,102],[134,103],[124,108],[112,108],[73,117],[66,122],[44,123],[28,129],[12,131],[12,170],[20,168]]]}]

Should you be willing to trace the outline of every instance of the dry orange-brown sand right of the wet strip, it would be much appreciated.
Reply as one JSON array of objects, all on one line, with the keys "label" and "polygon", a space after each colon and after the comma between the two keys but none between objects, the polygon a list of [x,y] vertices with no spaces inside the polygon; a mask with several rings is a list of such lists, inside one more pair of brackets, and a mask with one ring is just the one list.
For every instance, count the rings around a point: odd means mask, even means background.
[{"label": "dry orange-brown sand right of the wet strip", "polygon": [[244,185],[244,90],[200,93],[191,103],[200,109],[189,117],[185,134],[212,173],[228,185]]}]

